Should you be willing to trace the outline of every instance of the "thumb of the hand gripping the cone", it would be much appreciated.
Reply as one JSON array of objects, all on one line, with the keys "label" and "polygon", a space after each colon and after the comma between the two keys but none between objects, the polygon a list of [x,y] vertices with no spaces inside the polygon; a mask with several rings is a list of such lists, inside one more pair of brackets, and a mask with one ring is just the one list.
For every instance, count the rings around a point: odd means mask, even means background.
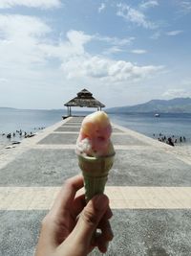
[{"label": "thumb of the hand gripping the cone", "polygon": [[109,199],[105,195],[92,198],[83,209],[74,229],[82,243],[90,244],[98,222],[109,207]]}]

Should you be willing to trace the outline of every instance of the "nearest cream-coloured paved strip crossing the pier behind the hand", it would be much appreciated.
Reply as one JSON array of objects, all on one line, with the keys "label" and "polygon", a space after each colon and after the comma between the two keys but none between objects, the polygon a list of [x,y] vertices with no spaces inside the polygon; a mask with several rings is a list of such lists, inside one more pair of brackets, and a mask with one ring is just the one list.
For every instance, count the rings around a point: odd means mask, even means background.
[{"label": "nearest cream-coloured paved strip crossing the pier behind the hand", "polygon": [[[112,209],[191,209],[191,198],[183,197],[182,189],[106,186],[105,194]],[[0,210],[50,209],[59,190],[60,187],[0,187]],[[81,194],[84,190],[77,192],[78,196]]]}]

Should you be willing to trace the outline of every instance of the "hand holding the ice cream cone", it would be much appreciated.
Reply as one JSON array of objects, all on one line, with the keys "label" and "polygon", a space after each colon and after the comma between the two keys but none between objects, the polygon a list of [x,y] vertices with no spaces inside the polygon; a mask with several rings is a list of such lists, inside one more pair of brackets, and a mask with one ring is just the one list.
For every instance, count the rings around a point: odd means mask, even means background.
[{"label": "hand holding the ice cream cone", "polygon": [[[66,181],[42,221],[35,256],[86,256],[96,246],[103,253],[107,251],[113,239],[109,199],[97,195],[86,205],[84,195],[75,195],[82,187],[80,175]],[[98,235],[96,228],[101,230]]]}]

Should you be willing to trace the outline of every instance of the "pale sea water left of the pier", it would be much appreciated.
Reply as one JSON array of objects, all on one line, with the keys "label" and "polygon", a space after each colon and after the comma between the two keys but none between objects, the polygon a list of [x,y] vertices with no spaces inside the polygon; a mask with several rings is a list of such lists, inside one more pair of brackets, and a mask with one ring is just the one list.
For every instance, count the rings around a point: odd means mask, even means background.
[{"label": "pale sea water left of the pier", "polygon": [[[65,114],[65,110],[0,108],[0,145],[5,146],[12,141],[21,141],[25,132],[33,134],[42,131],[43,128],[61,121],[62,115]],[[11,139],[7,138],[9,133],[11,133]],[[14,137],[13,133],[15,133]]]}]

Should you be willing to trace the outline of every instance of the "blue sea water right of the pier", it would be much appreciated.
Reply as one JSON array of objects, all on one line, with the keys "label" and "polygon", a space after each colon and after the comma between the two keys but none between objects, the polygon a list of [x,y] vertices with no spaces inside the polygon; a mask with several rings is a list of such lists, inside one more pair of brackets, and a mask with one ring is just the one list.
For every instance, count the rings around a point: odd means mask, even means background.
[{"label": "blue sea water right of the pier", "polygon": [[111,120],[123,127],[136,130],[149,137],[185,137],[191,143],[191,114],[154,113],[110,114]]}]

